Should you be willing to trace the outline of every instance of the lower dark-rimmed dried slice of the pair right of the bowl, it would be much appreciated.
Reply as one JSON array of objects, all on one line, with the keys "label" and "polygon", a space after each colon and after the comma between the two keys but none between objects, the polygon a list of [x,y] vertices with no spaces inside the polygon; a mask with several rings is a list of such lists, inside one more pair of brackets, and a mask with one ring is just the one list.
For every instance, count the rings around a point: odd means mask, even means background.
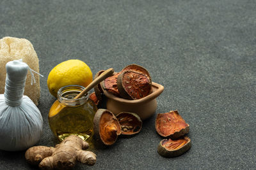
[{"label": "lower dark-rimmed dried slice of the pair right of the bowl", "polygon": [[177,157],[191,148],[191,141],[188,137],[177,140],[163,139],[160,141],[157,152],[163,157]]}]

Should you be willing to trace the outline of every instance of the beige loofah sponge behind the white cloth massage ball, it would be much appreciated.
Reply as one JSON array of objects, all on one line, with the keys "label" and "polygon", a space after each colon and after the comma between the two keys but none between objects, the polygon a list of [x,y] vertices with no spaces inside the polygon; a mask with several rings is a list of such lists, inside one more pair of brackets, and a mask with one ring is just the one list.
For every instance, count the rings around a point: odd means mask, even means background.
[{"label": "beige loofah sponge behind the white cloth massage ball", "polygon": [[[34,71],[39,73],[38,57],[33,45],[24,38],[4,37],[0,39],[0,94],[4,93],[4,84],[6,78],[5,65],[11,60],[22,59],[23,62]],[[38,105],[40,97],[40,80],[38,74],[35,74],[36,83],[31,85],[31,74],[27,74],[24,95],[28,96],[33,103]]]}]

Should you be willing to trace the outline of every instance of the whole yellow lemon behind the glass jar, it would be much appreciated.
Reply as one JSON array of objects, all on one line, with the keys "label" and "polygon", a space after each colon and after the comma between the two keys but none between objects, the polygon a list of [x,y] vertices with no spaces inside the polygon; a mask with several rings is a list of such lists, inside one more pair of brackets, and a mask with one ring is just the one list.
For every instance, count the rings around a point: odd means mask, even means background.
[{"label": "whole yellow lemon behind the glass jar", "polygon": [[55,66],[48,75],[47,86],[52,96],[66,85],[86,87],[92,82],[92,71],[81,60],[67,60]]}]

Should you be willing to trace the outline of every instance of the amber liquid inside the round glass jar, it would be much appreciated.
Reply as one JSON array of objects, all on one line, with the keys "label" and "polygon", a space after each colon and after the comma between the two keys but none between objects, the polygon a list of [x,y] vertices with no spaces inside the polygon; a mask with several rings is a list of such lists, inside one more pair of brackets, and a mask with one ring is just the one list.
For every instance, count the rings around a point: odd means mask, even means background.
[{"label": "amber liquid inside the round glass jar", "polygon": [[87,141],[93,136],[93,117],[96,111],[96,106],[90,100],[85,104],[71,107],[57,100],[49,112],[49,125],[61,141],[72,134]]}]

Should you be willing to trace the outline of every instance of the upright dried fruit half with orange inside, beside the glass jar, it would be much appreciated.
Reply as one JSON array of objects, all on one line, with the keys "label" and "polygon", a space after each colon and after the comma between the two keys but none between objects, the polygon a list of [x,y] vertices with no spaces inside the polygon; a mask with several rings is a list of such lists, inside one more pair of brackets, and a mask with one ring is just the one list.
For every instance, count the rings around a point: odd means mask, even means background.
[{"label": "upright dried fruit half with orange inside, beside the glass jar", "polygon": [[93,119],[95,138],[104,145],[113,145],[121,134],[120,124],[109,110],[99,109]]}]

